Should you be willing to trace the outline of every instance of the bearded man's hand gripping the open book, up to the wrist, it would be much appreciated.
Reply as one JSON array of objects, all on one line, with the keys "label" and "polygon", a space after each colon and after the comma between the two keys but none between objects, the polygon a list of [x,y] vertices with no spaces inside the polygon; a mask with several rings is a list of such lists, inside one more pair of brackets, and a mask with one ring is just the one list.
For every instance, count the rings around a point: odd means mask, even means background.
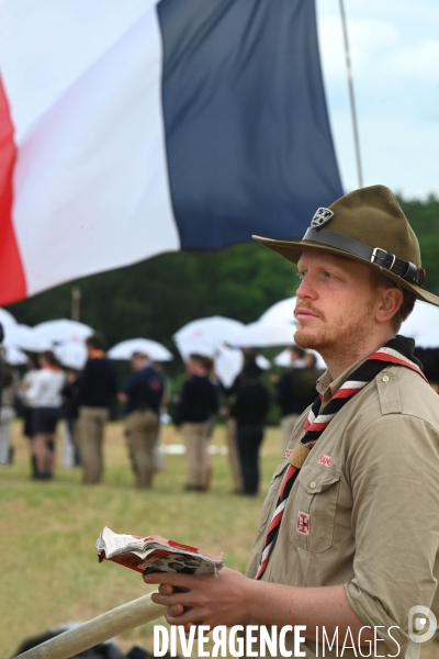
[{"label": "bearded man's hand gripping the open book, up to the wrist", "polygon": [[145,583],[159,583],[157,604],[168,606],[170,625],[239,625],[251,617],[251,602],[258,582],[228,568],[214,574],[157,572],[144,576]]}]

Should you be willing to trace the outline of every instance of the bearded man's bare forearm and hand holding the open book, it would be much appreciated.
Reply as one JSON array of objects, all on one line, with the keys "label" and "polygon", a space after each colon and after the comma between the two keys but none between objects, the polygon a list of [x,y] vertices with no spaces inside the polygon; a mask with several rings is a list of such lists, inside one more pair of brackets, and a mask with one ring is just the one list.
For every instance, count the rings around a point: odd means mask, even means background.
[{"label": "bearded man's bare forearm and hand holding the open book", "polygon": [[300,588],[248,579],[235,570],[223,568],[213,574],[177,574],[157,572],[144,577],[145,583],[159,583],[157,604],[168,606],[165,615],[170,625],[184,625],[189,634],[192,625],[233,627],[247,621],[264,625],[304,625],[306,638],[315,639],[316,627],[327,634],[345,638],[349,628],[353,637],[361,629],[362,643],[374,643],[371,627],[351,608],[345,587],[324,585]]}]

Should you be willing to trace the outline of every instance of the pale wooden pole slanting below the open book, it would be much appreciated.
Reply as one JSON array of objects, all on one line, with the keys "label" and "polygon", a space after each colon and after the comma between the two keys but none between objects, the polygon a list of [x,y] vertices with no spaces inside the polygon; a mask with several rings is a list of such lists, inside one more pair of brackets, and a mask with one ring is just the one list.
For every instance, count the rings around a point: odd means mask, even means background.
[{"label": "pale wooden pole slanting below the open book", "polygon": [[117,634],[150,623],[164,615],[166,606],[155,604],[151,593],[127,602],[79,627],[64,632],[50,640],[19,655],[16,659],[68,659]]}]

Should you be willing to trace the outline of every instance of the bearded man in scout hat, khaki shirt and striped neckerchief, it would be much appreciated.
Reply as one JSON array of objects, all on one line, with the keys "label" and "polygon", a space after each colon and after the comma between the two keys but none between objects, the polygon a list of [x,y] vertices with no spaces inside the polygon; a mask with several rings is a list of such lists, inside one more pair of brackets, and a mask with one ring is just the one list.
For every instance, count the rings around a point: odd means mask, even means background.
[{"label": "bearded man in scout hat, khaki shirt and striped neckerchief", "polygon": [[340,656],[322,651],[325,627],[339,644],[350,632],[344,657],[368,656],[376,637],[379,656],[418,657],[410,610],[437,613],[439,574],[438,399],[397,335],[416,299],[439,305],[418,242],[383,186],[318,209],[301,242],[256,239],[297,264],[294,340],[328,370],[274,472],[247,576],[145,581],[187,630],[303,625],[306,657]]}]

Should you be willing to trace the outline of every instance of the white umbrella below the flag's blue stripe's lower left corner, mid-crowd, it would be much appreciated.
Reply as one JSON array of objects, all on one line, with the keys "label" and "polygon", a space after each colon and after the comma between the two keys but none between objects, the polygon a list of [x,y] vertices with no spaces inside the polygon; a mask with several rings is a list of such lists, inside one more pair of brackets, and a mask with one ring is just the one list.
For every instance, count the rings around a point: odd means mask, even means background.
[{"label": "white umbrella below the flag's blue stripe's lower left corner, mid-crowd", "polygon": [[233,319],[211,316],[188,323],[173,335],[173,340],[185,361],[192,353],[213,357],[218,346],[232,344],[245,325]]}]

